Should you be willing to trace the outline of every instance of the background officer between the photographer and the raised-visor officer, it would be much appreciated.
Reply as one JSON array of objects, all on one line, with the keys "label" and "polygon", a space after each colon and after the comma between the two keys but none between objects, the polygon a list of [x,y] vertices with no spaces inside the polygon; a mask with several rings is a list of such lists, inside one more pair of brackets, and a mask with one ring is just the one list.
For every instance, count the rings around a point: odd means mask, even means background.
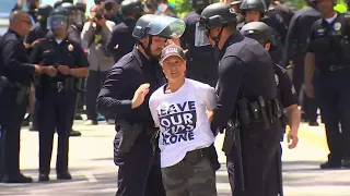
[{"label": "background officer between the photographer and the raised-visor officer", "polygon": [[138,19],[143,15],[143,8],[141,0],[125,0],[120,3],[120,12],[124,16],[122,23],[113,28],[106,45],[115,62],[132,50],[136,44],[132,30]]}]

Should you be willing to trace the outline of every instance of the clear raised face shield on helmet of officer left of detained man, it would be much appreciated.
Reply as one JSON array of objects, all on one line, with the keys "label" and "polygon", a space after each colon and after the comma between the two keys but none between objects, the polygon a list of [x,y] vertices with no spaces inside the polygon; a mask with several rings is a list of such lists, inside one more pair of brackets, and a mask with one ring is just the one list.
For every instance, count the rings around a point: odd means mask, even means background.
[{"label": "clear raised face shield on helmet of officer left of detained man", "polygon": [[184,21],[171,16],[156,16],[149,24],[148,34],[168,39],[179,38],[186,28]]}]

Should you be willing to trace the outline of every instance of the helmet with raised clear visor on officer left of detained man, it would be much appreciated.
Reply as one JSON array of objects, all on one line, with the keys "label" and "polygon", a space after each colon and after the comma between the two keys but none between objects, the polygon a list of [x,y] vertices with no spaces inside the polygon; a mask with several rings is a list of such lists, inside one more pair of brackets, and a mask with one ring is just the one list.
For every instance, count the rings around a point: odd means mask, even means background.
[{"label": "helmet with raised clear visor on officer left of detained man", "polygon": [[145,14],[137,21],[132,36],[137,39],[141,39],[148,35],[173,39],[179,38],[184,34],[185,28],[185,22],[179,19]]}]

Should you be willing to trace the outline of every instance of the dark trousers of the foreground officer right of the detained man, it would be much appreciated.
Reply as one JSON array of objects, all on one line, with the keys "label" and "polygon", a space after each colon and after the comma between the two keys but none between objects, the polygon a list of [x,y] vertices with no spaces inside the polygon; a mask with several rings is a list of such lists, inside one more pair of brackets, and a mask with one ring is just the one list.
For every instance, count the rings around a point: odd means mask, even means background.
[{"label": "dark trousers of the foreground officer right of the detained man", "polygon": [[[275,121],[271,128],[266,131],[262,124],[253,124],[249,128],[241,131],[242,155],[243,155],[243,175],[244,187],[242,191],[241,172],[238,168],[237,155],[235,151],[228,156],[228,166],[230,168],[229,177],[231,187],[234,187],[234,196],[275,196],[278,195],[278,180],[271,179],[272,167],[276,167],[276,156],[278,155],[280,140],[280,122]],[[232,164],[233,163],[233,164]],[[232,176],[232,172],[234,175]],[[234,177],[233,180],[231,177]]]}]

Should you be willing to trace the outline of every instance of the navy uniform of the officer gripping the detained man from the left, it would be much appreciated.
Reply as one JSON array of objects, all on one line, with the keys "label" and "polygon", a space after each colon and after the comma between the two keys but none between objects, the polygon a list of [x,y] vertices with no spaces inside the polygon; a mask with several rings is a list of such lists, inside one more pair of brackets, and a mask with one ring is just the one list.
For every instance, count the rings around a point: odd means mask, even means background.
[{"label": "navy uniform of the officer gripping the detained man from the left", "polygon": [[[131,109],[133,94],[143,83],[150,84],[150,93],[140,107]],[[145,59],[135,47],[108,72],[97,98],[97,109],[114,114],[117,121],[120,119],[131,124],[141,124],[144,130],[154,128],[149,98],[164,83],[159,62]],[[130,152],[121,152],[118,146],[124,133],[118,123],[116,131],[114,161],[119,166],[117,196],[165,196],[160,157],[159,152],[153,152],[151,135],[144,131]]]}]

